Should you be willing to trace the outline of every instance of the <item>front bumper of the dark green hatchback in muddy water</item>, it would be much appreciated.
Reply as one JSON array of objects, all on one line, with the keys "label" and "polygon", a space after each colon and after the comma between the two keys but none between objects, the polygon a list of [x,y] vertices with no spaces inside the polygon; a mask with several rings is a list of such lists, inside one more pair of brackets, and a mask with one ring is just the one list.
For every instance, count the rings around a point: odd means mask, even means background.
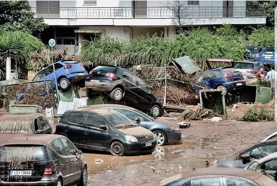
[{"label": "front bumper of the dark green hatchback in muddy water", "polygon": [[145,146],[147,142],[124,142],[125,154],[141,154],[146,152],[154,152],[157,145],[157,140],[150,140],[151,146]]}]

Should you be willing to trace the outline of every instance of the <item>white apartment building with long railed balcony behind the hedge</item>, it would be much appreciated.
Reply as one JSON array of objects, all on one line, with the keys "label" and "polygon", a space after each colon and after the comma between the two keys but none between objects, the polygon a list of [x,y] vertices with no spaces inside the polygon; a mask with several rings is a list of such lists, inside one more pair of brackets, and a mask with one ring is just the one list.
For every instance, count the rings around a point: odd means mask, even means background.
[{"label": "white apartment building with long railed balcony behind the hedge", "polygon": [[149,32],[176,34],[177,27],[208,27],[224,23],[238,29],[264,24],[263,8],[246,8],[246,1],[29,1],[37,17],[49,28],[42,34],[56,50],[67,46],[71,53],[81,50],[82,41],[96,34],[131,40]]}]

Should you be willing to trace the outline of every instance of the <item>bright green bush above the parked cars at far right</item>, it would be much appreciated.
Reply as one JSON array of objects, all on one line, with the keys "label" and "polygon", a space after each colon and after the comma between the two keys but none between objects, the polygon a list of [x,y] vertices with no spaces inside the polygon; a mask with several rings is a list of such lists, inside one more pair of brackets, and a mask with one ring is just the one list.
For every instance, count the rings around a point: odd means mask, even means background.
[{"label": "bright green bush above the parked cars at far right", "polygon": [[259,28],[253,29],[252,33],[248,36],[248,45],[260,46],[274,46],[274,29],[273,28]]}]

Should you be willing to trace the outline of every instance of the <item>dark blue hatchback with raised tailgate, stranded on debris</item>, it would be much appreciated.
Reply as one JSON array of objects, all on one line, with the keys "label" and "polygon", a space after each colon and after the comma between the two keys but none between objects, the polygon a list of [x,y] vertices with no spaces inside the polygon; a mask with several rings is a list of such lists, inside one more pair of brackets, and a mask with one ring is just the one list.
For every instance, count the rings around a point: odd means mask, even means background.
[{"label": "dark blue hatchback with raised tailgate, stranded on debris", "polygon": [[[209,63],[215,62],[231,62],[232,66],[224,68],[211,69]],[[246,85],[246,81],[242,77],[242,73],[233,68],[234,62],[227,59],[209,59],[206,61],[210,70],[198,74],[194,90],[199,94],[199,90],[203,89],[221,89],[226,95],[228,92],[242,89]]]}]

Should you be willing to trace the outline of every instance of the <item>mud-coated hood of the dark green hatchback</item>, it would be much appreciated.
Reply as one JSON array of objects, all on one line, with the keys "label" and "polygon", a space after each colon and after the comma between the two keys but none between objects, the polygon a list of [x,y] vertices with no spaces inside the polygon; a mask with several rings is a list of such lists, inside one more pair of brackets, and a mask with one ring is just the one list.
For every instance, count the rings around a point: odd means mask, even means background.
[{"label": "mud-coated hood of the dark green hatchback", "polygon": [[120,129],[116,129],[124,134],[127,135],[132,135],[134,137],[136,137],[138,140],[142,139],[142,138],[146,138],[147,139],[149,137],[154,137],[154,134],[149,131],[148,129],[145,129],[143,127],[130,127],[130,128],[120,128]]}]

